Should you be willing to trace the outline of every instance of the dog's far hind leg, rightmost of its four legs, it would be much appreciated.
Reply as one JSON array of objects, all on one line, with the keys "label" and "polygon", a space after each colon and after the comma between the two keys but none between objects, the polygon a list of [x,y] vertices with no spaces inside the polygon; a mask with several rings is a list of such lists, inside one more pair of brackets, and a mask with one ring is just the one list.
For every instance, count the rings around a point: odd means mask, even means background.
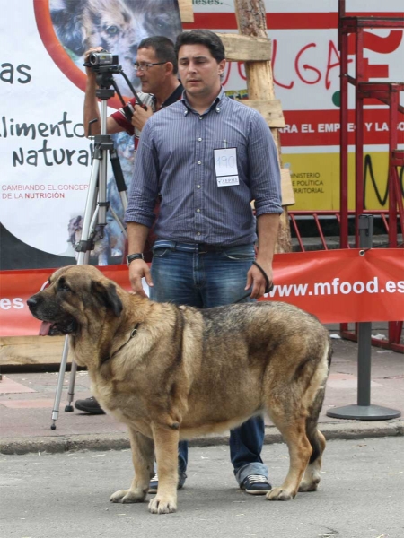
[{"label": "dog's far hind leg, rightmost of its four legs", "polygon": [[306,419],[306,435],[312,445],[312,456],[299,486],[299,491],[315,491],[320,482],[321,456],[326,447],[326,440],[320,430],[317,430],[317,421],[324,400],[324,388],[321,388],[314,399],[310,416]]}]

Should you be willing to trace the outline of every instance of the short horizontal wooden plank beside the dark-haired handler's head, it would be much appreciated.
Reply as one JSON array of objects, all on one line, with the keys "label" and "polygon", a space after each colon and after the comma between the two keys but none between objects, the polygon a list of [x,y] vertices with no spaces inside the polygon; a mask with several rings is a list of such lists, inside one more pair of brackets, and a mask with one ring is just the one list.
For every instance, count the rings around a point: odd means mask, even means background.
[{"label": "short horizontal wooden plank beside the dark-haired handler's head", "polygon": [[219,32],[217,35],[223,41],[229,62],[265,62],[271,59],[270,39]]}]

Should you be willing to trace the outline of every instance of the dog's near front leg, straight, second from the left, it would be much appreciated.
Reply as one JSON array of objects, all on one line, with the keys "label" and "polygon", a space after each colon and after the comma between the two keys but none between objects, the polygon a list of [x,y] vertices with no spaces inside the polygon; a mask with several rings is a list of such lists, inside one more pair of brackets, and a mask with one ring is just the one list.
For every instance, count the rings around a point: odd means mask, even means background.
[{"label": "dog's near front leg, straight, second from the left", "polygon": [[155,457],[159,473],[157,495],[149,503],[152,514],[170,514],[177,510],[179,430],[152,425]]}]

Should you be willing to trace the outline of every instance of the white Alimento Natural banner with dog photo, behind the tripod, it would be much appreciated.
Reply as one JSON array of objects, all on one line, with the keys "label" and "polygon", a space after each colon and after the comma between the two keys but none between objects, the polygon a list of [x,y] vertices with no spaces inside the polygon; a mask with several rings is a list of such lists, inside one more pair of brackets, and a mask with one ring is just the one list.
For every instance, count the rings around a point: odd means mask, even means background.
[{"label": "white Alimento Natural banner with dog photo, behind the tripod", "polygon": [[[137,43],[150,35],[175,40],[181,30],[178,3],[0,0],[0,13],[1,222],[20,246],[74,256],[69,239],[83,216],[92,168],[91,143],[83,130],[83,53],[101,45],[119,55],[119,65],[137,87]],[[123,95],[132,97],[123,77],[115,78]],[[128,184],[133,141],[119,134],[116,145]],[[122,216],[110,185],[109,196]],[[108,227],[110,236],[121,236],[114,222]],[[5,259],[2,267],[22,268]]]}]

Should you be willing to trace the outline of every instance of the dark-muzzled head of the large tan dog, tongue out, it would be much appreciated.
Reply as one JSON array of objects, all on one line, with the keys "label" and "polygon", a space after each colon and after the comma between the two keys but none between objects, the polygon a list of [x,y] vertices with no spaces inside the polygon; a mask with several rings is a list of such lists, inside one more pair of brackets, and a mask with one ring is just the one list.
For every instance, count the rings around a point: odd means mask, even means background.
[{"label": "dark-muzzled head of the large tan dog, tongue out", "polygon": [[69,265],[49,278],[48,286],[27,300],[31,314],[42,321],[40,334],[96,331],[106,317],[119,317],[122,301],[117,286],[92,265]]}]

